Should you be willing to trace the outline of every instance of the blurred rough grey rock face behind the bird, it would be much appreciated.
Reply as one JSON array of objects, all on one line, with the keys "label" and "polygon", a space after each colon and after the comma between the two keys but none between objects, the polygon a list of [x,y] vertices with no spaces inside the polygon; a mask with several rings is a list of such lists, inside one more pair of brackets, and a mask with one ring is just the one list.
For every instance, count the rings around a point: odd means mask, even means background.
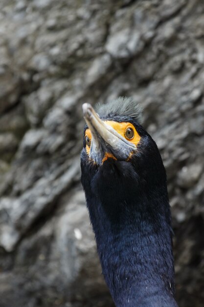
[{"label": "blurred rough grey rock face behind the bird", "polygon": [[168,176],[180,307],[204,302],[204,2],[0,1],[1,307],[112,307],[83,102],[132,96]]}]

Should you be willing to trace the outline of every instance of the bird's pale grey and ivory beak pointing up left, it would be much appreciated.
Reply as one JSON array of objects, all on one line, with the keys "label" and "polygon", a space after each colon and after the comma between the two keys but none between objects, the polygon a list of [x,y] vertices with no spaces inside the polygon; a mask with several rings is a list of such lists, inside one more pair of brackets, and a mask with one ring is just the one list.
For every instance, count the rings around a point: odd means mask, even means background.
[{"label": "bird's pale grey and ivory beak pointing up left", "polygon": [[89,103],[83,104],[83,115],[92,135],[90,158],[98,165],[101,165],[107,157],[128,160],[131,153],[136,150],[136,145],[102,121]]}]

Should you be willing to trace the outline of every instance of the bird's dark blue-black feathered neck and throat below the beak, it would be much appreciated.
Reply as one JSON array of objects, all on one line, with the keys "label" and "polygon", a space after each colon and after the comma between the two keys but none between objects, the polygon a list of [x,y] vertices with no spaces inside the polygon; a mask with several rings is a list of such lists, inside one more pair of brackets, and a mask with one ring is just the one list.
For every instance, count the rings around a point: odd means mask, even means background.
[{"label": "bird's dark blue-black feathered neck and throat below the beak", "polygon": [[145,161],[95,170],[82,160],[82,184],[116,307],[177,307],[165,171],[159,155]]}]

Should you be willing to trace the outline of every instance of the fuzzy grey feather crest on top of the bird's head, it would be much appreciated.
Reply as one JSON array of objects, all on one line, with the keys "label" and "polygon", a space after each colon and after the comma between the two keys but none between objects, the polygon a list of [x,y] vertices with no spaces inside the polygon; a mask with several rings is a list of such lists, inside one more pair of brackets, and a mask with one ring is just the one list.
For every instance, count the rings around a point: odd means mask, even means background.
[{"label": "fuzzy grey feather crest on top of the bird's head", "polygon": [[131,97],[118,97],[112,102],[106,104],[99,102],[96,105],[96,112],[99,115],[104,117],[108,117],[109,115],[128,116],[135,119],[139,124],[142,123],[142,111],[142,107]]}]

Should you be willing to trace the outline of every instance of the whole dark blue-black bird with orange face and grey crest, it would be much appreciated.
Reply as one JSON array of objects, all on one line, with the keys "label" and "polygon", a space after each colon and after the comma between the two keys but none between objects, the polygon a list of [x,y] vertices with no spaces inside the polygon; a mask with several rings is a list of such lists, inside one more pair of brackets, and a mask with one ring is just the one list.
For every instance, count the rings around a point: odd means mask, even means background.
[{"label": "whole dark blue-black bird with orange face and grey crest", "polygon": [[178,307],[166,173],[132,99],[83,104],[82,185],[116,307]]}]

